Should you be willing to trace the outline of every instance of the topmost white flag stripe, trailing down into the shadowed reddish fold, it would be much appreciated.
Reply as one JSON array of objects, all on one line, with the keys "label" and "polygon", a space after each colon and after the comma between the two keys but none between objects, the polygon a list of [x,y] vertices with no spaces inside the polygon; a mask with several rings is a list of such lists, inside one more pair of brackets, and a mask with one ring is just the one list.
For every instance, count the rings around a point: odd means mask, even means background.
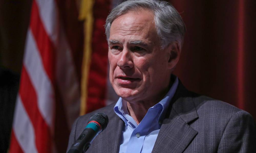
[{"label": "topmost white flag stripe, trailing down into the shadowed reddish fold", "polygon": [[56,50],[56,76],[58,90],[65,105],[69,129],[79,116],[80,91],[78,76],[74,67],[71,49],[66,40],[63,25],[60,22],[55,1],[36,0],[39,15],[46,32]]}]

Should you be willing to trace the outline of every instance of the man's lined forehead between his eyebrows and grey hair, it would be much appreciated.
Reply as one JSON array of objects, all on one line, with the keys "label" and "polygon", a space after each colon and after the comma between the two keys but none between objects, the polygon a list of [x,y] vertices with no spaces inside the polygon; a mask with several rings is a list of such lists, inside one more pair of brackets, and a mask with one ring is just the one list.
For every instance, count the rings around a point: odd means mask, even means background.
[{"label": "man's lined forehead between his eyebrows and grey hair", "polygon": [[110,38],[124,37],[155,41],[156,29],[154,14],[149,10],[129,11],[117,17],[110,27]]}]

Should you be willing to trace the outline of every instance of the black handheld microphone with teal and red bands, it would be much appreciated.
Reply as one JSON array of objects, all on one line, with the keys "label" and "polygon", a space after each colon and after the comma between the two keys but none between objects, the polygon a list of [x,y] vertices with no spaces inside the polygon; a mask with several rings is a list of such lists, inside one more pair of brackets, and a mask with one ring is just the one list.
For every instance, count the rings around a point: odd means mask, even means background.
[{"label": "black handheld microphone with teal and red bands", "polygon": [[80,134],[68,153],[84,153],[90,147],[93,139],[106,129],[109,123],[108,116],[103,112],[94,113],[88,120],[88,124]]}]

